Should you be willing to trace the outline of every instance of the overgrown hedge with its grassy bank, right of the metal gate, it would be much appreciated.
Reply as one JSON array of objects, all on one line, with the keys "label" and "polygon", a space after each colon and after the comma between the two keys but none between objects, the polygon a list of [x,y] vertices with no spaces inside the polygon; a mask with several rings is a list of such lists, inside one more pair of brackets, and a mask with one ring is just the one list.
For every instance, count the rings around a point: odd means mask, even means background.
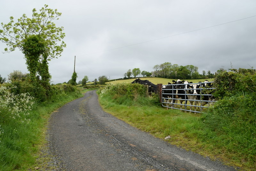
[{"label": "overgrown hedge with its grassy bank, right of the metal gate", "polygon": [[[256,161],[256,72],[254,69],[234,69],[216,76],[214,96],[218,101],[203,113],[205,129],[212,133],[204,138],[212,144],[225,146],[230,153],[246,156],[244,161]],[[219,142],[219,143],[217,143]]]}]

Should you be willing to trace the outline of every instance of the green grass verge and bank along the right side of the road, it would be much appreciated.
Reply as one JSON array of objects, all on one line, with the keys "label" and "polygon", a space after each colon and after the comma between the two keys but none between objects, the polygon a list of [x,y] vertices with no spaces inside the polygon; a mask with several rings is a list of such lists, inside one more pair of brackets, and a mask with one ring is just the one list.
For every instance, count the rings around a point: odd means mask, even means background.
[{"label": "green grass verge and bank along the right side of the road", "polygon": [[225,99],[224,104],[220,101],[204,115],[166,110],[154,105],[154,98],[137,97],[130,101],[126,98],[124,104],[116,98],[119,95],[113,97],[99,96],[102,108],[134,127],[161,139],[169,135],[167,141],[171,144],[213,160],[245,171],[256,170],[256,117],[252,106],[255,102],[251,97],[238,95]]}]

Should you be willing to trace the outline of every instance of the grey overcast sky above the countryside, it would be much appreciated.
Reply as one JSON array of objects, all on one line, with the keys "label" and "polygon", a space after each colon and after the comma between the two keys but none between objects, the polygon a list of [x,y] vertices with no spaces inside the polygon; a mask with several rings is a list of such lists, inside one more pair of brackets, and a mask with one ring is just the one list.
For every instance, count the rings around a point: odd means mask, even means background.
[{"label": "grey overcast sky above the countryside", "polygon": [[[66,34],[61,57],[49,62],[54,84],[71,79],[75,56],[77,82],[122,78],[133,68],[151,72],[164,62],[194,65],[200,74],[256,67],[255,0],[4,0],[0,22],[31,18],[44,4],[62,13],[55,23]],[[1,52],[5,47],[0,42]],[[0,63],[2,77],[28,73],[19,49],[0,53]]]}]

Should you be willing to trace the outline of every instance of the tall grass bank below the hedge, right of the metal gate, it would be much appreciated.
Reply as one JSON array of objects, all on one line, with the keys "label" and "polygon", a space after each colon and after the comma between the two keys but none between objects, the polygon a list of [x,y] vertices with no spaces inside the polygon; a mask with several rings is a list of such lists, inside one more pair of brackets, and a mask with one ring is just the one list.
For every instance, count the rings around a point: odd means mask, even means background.
[{"label": "tall grass bank below the hedge, right of the metal gate", "polygon": [[225,97],[202,116],[203,122],[215,134],[204,134],[216,147],[239,155],[243,161],[256,161],[256,102],[247,93]]}]

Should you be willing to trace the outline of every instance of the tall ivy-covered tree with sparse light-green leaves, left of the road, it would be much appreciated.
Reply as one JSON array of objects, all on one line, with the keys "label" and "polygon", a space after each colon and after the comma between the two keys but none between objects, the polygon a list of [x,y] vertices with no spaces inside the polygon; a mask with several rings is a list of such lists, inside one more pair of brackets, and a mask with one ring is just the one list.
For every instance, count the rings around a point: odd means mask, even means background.
[{"label": "tall ivy-covered tree with sparse light-green leaves, left of the road", "polygon": [[48,5],[44,5],[39,13],[33,9],[32,18],[23,14],[18,22],[10,17],[9,23],[1,23],[3,30],[0,29],[0,40],[8,47],[4,49],[6,52],[18,48],[24,53],[33,82],[36,81],[38,73],[42,81],[49,84],[51,75],[48,61],[60,57],[66,44],[61,41],[65,36],[63,27],[56,27],[53,23],[53,20],[59,19],[61,13],[47,7]]}]

